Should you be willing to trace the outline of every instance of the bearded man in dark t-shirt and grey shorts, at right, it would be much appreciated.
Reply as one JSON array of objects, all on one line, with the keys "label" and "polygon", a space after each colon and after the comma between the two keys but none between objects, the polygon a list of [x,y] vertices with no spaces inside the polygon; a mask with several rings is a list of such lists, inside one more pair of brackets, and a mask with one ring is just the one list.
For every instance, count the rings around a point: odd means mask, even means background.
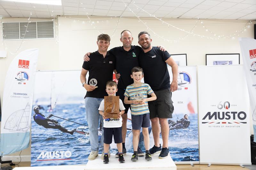
[{"label": "bearded man in dark t-shirt and grey shorts, at right", "polygon": [[[158,47],[152,47],[149,33],[140,32],[138,35],[143,53],[139,57],[140,67],[144,71],[144,82],[149,84],[155,92],[157,99],[148,102],[150,120],[155,145],[149,150],[151,155],[160,153],[158,158],[167,158],[169,155],[168,138],[169,125],[168,118],[172,118],[172,92],[178,88],[178,65],[172,59],[167,51],[161,51]],[[170,76],[167,65],[172,67],[172,83],[170,85]],[[163,148],[159,142],[160,125],[163,139]]]}]

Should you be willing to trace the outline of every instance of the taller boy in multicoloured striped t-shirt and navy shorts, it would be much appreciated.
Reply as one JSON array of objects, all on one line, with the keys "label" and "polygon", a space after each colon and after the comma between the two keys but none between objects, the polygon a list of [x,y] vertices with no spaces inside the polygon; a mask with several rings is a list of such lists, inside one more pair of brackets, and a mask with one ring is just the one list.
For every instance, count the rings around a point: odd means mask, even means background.
[{"label": "taller boy in multicoloured striped t-shirt and navy shorts", "polygon": [[[149,153],[148,127],[150,127],[150,119],[148,101],[156,100],[156,94],[148,84],[140,82],[143,78],[142,68],[133,67],[131,78],[133,79],[133,84],[128,85],[124,92],[124,103],[131,104],[133,133],[132,144],[134,152],[131,160],[138,160],[138,144],[141,127],[146,149],[145,159],[152,160],[151,154]],[[147,98],[147,95],[151,95],[151,97]],[[130,100],[128,100],[129,97]]]}]

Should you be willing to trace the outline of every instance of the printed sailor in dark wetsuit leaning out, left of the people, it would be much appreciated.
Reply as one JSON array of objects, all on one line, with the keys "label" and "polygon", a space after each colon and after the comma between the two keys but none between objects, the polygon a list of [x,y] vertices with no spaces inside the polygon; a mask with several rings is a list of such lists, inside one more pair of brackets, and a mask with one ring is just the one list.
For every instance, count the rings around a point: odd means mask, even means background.
[{"label": "printed sailor in dark wetsuit leaning out, left of the people", "polygon": [[53,116],[52,114],[50,114],[48,117],[45,118],[45,116],[39,112],[39,107],[38,106],[34,106],[33,109],[34,109],[34,112],[35,112],[35,114],[33,115],[34,121],[38,125],[41,125],[46,129],[49,129],[49,128],[59,129],[60,131],[62,131],[64,133],[69,133],[71,135],[73,135],[74,130],[76,130],[76,129],[73,129],[73,130],[69,131],[68,129],[65,129],[62,126],[60,126],[56,120],[49,119],[50,117]]}]

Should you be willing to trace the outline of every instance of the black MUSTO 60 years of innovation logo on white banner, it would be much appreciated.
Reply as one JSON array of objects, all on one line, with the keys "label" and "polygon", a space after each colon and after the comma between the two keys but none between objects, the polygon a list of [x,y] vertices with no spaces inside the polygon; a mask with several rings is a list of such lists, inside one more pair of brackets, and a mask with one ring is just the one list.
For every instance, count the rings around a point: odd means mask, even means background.
[{"label": "black MUSTO 60 years of innovation logo on white banner", "polygon": [[247,123],[245,121],[247,114],[244,111],[236,110],[236,104],[230,104],[229,101],[220,101],[217,105],[210,106],[214,108],[211,109],[214,111],[209,111],[204,115],[202,124],[212,124],[209,127],[240,127],[241,124]]}]

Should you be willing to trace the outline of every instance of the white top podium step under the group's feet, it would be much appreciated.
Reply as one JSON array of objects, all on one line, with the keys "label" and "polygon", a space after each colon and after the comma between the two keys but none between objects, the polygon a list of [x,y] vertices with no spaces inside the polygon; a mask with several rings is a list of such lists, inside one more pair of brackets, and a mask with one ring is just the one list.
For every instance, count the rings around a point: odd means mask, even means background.
[{"label": "white top podium step under the group's feet", "polygon": [[100,159],[100,156],[101,155],[94,160],[89,160],[85,166],[85,170],[177,170],[177,167],[170,156],[165,159],[159,159],[159,154],[155,154],[152,156],[151,161],[146,160],[144,156],[139,156],[138,160],[133,162],[131,161],[132,153],[127,153],[124,155],[125,163],[119,163],[118,158],[115,157],[115,154],[111,154],[108,164],[104,164],[103,160]]}]

